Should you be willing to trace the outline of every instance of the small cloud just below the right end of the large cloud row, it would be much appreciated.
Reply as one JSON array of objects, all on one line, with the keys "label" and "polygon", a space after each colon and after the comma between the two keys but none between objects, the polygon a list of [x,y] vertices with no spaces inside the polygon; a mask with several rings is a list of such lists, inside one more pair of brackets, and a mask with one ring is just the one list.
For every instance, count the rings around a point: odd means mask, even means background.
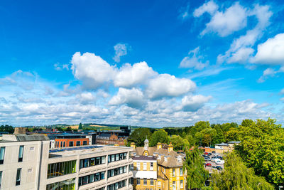
[{"label": "small cloud just below the right end of the large cloud row", "polygon": [[194,95],[182,98],[181,108],[185,112],[196,112],[208,102],[212,96]]}]

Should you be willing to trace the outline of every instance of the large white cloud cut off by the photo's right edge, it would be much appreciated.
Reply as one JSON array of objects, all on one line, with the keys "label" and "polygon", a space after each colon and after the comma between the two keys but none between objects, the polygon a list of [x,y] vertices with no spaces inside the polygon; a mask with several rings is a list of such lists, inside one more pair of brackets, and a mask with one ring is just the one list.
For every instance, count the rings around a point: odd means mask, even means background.
[{"label": "large white cloud cut off by the photo's right edge", "polygon": [[279,33],[258,45],[254,63],[284,65],[284,33]]}]

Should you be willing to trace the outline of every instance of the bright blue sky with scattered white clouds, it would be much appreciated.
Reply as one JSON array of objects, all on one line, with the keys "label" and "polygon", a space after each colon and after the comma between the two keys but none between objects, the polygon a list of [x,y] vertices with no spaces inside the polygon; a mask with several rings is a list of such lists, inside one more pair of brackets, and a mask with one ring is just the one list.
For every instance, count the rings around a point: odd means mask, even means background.
[{"label": "bright blue sky with scattered white clouds", "polygon": [[283,123],[281,1],[1,1],[0,124]]}]

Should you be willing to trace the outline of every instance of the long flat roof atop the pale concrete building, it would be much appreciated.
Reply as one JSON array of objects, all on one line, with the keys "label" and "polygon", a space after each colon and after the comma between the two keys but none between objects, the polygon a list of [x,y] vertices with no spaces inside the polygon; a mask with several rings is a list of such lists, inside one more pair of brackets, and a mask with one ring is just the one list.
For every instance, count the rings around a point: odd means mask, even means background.
[{"label": "long flat roof atop the pale concrete building", "polygon": [[67,148],[57,148],[50,149],[50,158],[53,157],[69,157],[78,154],[90,154],[99,152],[112,152],[116,150],[125,150],[125,152],[131,151],[131,147],[116,147],[116,146],[103,146],[103,145],[86,145],[82,147],[67,147]]}]

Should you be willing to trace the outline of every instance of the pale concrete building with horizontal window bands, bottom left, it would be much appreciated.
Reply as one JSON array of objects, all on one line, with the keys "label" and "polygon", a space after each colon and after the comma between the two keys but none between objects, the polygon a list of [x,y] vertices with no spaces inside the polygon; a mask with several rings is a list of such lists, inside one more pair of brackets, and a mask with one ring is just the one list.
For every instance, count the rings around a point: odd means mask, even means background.
[{"label": "pale concrete building with horizontal window bands, bottom left", "polygon": [[44,135],[5,136],[0,141],[0,189],[132,189],[132,148],[49,149]]}]

